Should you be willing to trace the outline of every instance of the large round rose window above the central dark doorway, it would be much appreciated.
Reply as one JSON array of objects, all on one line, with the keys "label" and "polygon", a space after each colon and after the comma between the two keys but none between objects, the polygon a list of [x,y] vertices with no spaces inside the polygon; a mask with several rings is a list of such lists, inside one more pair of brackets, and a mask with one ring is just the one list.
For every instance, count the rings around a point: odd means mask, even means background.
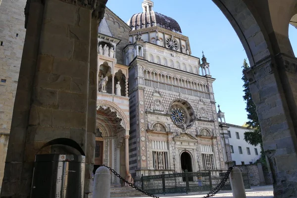
[{"label": "large round rose window above the central dark doorway", "polygon": [[182,99],[174,100],[170,106],[170,117],[173,123],[182,129],[189,129],[195,122],[191,105]]}]

